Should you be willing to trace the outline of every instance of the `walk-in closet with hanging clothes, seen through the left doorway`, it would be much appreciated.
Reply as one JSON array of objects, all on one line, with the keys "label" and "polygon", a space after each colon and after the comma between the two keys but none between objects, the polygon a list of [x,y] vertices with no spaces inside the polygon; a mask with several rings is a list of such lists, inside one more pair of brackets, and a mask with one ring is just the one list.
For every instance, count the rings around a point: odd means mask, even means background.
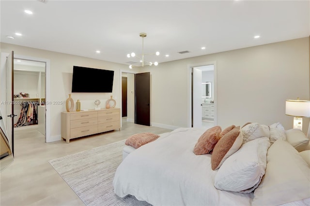
[{"label": "walk-in closet with hanging clothes, seen through the left doorway", "polygon": [[[14,60],[14,128],[45,135],[45,63]],[[29,129],[29,128],[28,128]]]}]

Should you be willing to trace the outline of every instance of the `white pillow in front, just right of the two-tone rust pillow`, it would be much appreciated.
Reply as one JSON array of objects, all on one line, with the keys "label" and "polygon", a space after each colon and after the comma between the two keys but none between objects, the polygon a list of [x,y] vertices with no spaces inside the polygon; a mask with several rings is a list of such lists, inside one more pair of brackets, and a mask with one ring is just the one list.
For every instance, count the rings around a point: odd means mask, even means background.
[{"label": "white pillow in front, just right of the two-tone rust pillow", "polygon": [[218,169],[214,186],[218,190],[252,192],[265,174],[269,137],[254,139],[242,145]]}]

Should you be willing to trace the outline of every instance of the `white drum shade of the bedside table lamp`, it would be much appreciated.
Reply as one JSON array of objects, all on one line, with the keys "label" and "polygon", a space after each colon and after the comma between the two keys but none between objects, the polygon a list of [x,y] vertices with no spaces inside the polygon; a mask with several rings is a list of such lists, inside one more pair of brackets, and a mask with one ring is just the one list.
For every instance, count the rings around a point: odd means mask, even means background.
[{"label": "white drum shade of the bedside table lamp", "polygon": [[310,117],[310,101],[286,100],[285,114],[294,117]]}]

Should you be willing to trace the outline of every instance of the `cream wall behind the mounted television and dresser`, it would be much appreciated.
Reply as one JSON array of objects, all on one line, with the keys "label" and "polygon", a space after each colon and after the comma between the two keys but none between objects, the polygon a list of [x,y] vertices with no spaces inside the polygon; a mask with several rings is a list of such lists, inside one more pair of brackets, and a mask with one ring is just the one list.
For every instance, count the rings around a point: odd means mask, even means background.
[{"label": "cream wall behind the mounted television and dresser", "polygon": [[51,105],[50,121],[52,139],[61,139],[61,112],[66,111],[65,100],[68,98],[68,94],[71,93],[72,70],[74,65],[115,71],[112,93],[73,93],[72,98],[74,102],[79,99],[81,102],[81,108],[91,109],[95,106],[94,101],[96,99],[99,99],[102,103],[100,104],[100,106],[105,107],[103,103],[105,103],[110,98],[110,95],[113,95],[113,99],[116,101],[116,107],[121,106],[119,78],[120,70],[127,70],[127,65],[98,59],[67,55],[47,50],[40,50],[30,47],[18,46],[14,44],[1,43],[0,45],[1,52],[9,53],[13,50],[15,52],[15,55],[25,55],[37,58],[50,59],[50,101],[63,102],[63,104]]}]

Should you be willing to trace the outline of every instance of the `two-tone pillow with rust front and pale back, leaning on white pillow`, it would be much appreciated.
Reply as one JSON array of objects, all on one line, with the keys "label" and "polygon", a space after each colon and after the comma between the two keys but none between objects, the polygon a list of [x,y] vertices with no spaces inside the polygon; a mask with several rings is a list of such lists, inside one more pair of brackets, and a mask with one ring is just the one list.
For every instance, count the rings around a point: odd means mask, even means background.
[{"label": "two-tone pillow with rust front and pale back, leaning on white pillow", "polygon": [[240,126],[238,126],[227,132],[217,142],[211,156],[211,167],[213,170],[218,169],[229,156],[241,147],[242,139],[242,132],[240,132]]}]

